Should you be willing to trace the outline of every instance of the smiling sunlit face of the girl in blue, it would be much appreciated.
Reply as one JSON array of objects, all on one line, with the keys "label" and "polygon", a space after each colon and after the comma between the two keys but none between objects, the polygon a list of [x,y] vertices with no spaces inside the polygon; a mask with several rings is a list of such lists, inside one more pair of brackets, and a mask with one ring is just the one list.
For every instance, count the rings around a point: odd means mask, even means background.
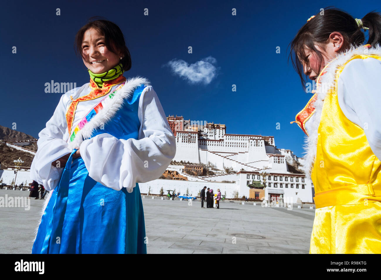
[{"label": "smiling sunlit face of the girl in blue", "polygon": [[82,59],[85,66],[94,74],[104,73],[120,62],[123,54],[115,54],[107,49],[104,35],[98,30],[86,30],[82,41]]}]

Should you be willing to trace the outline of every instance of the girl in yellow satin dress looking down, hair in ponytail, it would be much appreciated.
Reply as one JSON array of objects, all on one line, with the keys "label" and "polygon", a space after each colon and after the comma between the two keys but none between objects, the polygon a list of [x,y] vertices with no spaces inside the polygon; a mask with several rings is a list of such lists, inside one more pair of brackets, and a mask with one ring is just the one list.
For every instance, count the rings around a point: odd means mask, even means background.
[{"label": "girl in yellow satin dress looking down, hair in ponytail", "polygon": [[295,118],[315,187],[310,253],[381,253],[380,43],[379,13],[355,19],[335,8],[309,18],[291,42],[302,83],[316,82]]}]

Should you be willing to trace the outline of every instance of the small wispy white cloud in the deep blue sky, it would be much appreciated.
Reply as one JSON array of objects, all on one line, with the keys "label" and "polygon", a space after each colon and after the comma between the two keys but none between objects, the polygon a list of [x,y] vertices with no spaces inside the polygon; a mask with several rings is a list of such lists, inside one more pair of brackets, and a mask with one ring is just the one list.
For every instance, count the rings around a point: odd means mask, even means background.
[{"label": "small wispy white cloud in the deep blue sky", "polygon": [[217,75],[217,68],[213,65],[217,60],[211,56],[203,58],[193,64],[182,59],[172,59],[167,63],[173,74],[184,78],[189,83],[203,83],[208,85]]}]

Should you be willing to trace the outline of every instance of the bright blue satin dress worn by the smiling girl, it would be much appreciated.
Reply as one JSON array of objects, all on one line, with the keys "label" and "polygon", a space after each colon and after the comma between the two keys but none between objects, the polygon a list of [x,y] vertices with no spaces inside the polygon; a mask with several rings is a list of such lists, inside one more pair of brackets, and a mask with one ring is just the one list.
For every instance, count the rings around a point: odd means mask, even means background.
[{"label": "bright blue satin dress worn by the smiling girl", "polygon": [[[104,129],[118,139],[138,139],[139,97],[144,85],[125,99]],[[58,186],[42,215],[32,254],[147,253],[139,185],[128,193],[103,186],[89,177],[81,157],[67,161]],[[70,164],[71,163],[71,164]],[[117,168],[117,166],[115,166]]]}]

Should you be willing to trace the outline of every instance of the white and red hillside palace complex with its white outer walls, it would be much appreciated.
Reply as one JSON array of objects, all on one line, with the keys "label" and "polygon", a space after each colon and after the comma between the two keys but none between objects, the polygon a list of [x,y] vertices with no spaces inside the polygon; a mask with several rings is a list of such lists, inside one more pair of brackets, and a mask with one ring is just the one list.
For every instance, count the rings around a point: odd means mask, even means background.
[{"label": "white and red hillside palace complex with its white outer walls", "polygon": [[[300,166],[303,159],[288,149],[277,149],[274,136],[227,134],[223,124],[191,122],[178,116],[167,117],[176,137],[176,155],[163,176],[154,181],[139,183],[142,194],[160,194],[163,188],[181,194],[197,195],[204,187],[216,193],[221,190],[226,198],[242,197],[283,198],[293,203],[312,203],[313,186],[305,178]],[[25,141],[23,141],[25,142]],[[8,146],[31,154],[25,143],[7,143]],[[204,164],[213,174],[197,176],[189,170],[202,171]],[[266,168],[265,193],[264,177]],[[13,166],[0,170],[0,178],[10,184],[15,177]],[[199,173],[200,174],[200,173]],[[166,178],[166,179],[165,179]],[[1,180],[0,179],[0,180]],[[29,167],[18,172],[16,184],[25,184],[29,179]]]}]

